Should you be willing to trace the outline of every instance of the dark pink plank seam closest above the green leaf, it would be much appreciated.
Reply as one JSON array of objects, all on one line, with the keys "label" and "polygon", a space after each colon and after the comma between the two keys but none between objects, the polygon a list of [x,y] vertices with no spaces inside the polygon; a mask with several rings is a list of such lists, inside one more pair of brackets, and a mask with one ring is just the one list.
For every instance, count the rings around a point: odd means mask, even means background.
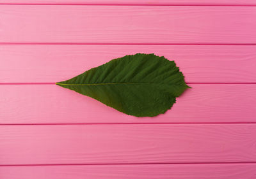
[{"label": "dark pink plank seam closest above the green leaf", "polygon": [[68,42],[0,42],[0,45],[252,45],[256,43],[68,43]]}]

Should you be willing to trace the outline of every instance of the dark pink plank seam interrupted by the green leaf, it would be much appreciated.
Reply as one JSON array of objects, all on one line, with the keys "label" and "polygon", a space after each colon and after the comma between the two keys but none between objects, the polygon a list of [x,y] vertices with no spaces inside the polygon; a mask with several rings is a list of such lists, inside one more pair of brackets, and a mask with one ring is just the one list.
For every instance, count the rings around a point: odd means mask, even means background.
[{"label": "dark pink plank seam interrupted by the green leaf", "polygon": [[[1,71],[1,70],[0,70]],[[215,82],[210,82],[210,83],[201,83],[201,82],[190,82],[187,83],[188,85],[256,85],[256,82],[230,82],[230,83],[215,83]],[[0,85],[56,85],[56,83],[51,83],[51,82],[42,82],[42,83],[32,83],[32,82],[28,82],[28,83],[0,83]],[[61,84],[63,85],[63,84]]]}]

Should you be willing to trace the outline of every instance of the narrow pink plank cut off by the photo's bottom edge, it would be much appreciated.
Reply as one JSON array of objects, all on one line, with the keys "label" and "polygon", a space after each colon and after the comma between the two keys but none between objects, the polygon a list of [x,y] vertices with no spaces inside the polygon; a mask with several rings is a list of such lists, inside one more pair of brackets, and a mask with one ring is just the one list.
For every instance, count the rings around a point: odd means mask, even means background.
[{"label": "narrow pink plank cut off by the photo's bottom edge", "polygon": [[4,179],[252,179],[256,164],[1,166]]}]

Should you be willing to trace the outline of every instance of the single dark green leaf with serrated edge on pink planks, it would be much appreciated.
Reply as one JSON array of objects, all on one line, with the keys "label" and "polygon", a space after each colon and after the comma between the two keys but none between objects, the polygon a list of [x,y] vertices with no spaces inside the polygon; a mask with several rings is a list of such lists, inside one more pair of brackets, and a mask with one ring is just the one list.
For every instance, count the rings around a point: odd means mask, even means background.
[{"label": "single dark green leaf with serrated edge on pink planks", "polygon": [[174,61],[154,54],[126,55],[56,84],[136,117],[164,113],[189,88]]}]

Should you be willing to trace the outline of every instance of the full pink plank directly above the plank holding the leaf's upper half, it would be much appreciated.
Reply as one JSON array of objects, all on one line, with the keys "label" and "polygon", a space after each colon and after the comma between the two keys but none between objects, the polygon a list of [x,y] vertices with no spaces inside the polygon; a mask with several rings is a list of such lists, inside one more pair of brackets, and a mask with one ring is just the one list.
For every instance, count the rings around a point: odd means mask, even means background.
[{"label": "full pink plank directly above the plank holding the leaf's upper half", "polygon": [[255,6],[1,5],[0,16],[1,43],[256,43]]}]

